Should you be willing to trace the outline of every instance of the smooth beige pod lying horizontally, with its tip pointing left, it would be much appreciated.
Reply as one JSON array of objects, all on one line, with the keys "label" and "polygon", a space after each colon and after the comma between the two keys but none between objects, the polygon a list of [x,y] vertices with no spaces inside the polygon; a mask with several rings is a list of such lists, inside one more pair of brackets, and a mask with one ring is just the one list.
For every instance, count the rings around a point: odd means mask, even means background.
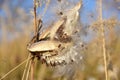
[{"label": "smooth beige pod lying horizontally, with its tip pointing left", "polygon": [[57,41],[40,41],[28,46],[27,49],[30,52],[51,51],[58,49],[59,44]]}]

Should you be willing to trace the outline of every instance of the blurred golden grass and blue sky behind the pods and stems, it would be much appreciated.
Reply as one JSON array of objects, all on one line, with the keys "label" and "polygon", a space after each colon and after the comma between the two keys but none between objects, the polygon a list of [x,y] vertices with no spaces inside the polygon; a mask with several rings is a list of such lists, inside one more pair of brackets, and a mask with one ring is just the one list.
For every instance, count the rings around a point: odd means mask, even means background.
[{"label": "blurred golden grass and blue sky behind the pods and stems", "polygon": [[[59,11],[69,9],[79,0],[38,1],[37,17],[42,17],[43,25],[47,27],[56,20]],[[98,0],[82,1],[80,37],[87,44],[87,50],[81,64],[84,69],[77,70],[73,80],[105,80],[98,4]],[[110,80],[120,80],[120,0],[103,0],[102,9],[108,75]],[[34,34],[33,18],[33,0],[0,0],[0,77],[27,58],[26,46]],[[24,66],[5,80],[21,80]],[[35,80],[66,80],[64,76],[53,78],[52,73],[51,68],[37,62]]]}]

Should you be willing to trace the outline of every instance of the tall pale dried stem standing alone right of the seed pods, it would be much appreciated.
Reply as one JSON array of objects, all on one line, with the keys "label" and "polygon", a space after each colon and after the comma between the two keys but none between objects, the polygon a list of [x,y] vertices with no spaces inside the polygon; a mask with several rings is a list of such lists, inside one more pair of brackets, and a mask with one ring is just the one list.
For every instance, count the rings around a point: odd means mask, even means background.
[{"label": "tall pale dried stem standing alone right of the seed pods", "polygon": [[108,71],[107,71],[107,54],[106,54],[106,47],[105,47],[105,30],[103,26],[103,19],[102,19],[102,0],[99,0],[99,20],[100,20],[100,28],[101,28],[101,37],[102,37],[102,50],[103,50],[103,57],[104,57],[104,69],[105,69],[105,80],[108,80]]}]

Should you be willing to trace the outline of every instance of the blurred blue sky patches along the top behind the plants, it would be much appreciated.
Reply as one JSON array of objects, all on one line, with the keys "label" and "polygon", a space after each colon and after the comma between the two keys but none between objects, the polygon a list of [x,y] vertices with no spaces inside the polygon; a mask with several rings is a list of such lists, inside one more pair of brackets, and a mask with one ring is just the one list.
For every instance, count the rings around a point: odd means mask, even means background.
[{"label": "blurred blue sky patches along the top behind the plants", "polygon": [[[9,6],[12,6],[12,9],[14,9],[16,7],[16,5],[19,5],[19,7],[24,9],[24,11],[27,14],[30,14],[30,11],[33,9],[33,0],[11,0],[11,1],[8,0],[10,3],[5,3],[5,1],[7,1],[7,0],[0,0],[0,16],[5,17],[5,18],[7,18],[7,16],[3,9],[4,4],[8,4]],[[51,1],[52,1],[52,3],[54,3],[54,0],[51,0]],[[74,2],[74,1],[79,1],[79,0],[69,0],[69,1]],[[96,21],[96,16],[98,15],[96,1],[97,0],[83,0],[83,3],[82,3],[83,5],[80,10],[80,19],[85,26],[89,25],[91,22]],[[106,8],[106,4],[105,3],[103,4],[103,10],[104,10],[103,17],[106,19],[109,19],[112,15],[113,17],[117,16],[117,18],[120,19],[119,10],[116,9],[116,7],[119,7],[120,3],[114,3],[114,5],[117,5],[114,8],[113,8],[113,6],[114,6],[113,0],[109,0],[107,3],[108,3],[107,8]],[[53,4],[53,6],[55,7],[54,4]],[[38,12],[43,12],[44,7],[45,7],[45,5],[43,5],[42,8],[40,8],[38,10]],[[48,7],[48,10],[50,10],[50,9],[52,9],[52,7]],[[54,16],[52,16],[52,13],[47,11],[43,17],[43,21],[49,22],[50,18],[53,18],[53,17]],[[0,31],[0,36],[1,36],[1,31]],[[91,37],[88,36],[88,38],[90,39]]]}]

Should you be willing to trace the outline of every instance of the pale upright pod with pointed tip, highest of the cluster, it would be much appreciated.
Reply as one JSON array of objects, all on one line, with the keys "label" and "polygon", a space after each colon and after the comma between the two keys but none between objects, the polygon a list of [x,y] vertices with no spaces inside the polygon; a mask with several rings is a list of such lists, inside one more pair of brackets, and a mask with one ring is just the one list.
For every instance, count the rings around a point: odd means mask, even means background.
[{"label": "pale upright pod with pointed tip, highest of the cluster", "polygon": [[76,30],[76,24],[79,18],[79,9],[81,8],[81,3],[78,3],[75,7],[70,10],[67,10],[64,16],[67,17],[67,21],[65,24],[64,32],[67,35],[72,35]]}]

